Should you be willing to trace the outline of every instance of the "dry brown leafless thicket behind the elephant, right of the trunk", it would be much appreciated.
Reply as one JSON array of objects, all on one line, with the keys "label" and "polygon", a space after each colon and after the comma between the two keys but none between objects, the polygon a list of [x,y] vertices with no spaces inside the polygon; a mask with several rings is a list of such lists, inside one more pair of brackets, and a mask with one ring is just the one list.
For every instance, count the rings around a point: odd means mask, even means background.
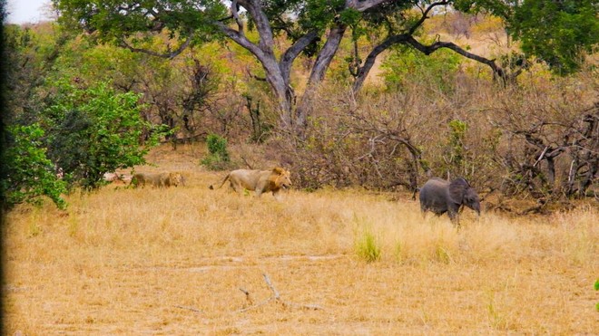
[{"label": "dry brown leafless thicket behind the elephant, right of the trunk", "polygon": [[291,163],[296,185],[309,189],[413,190],[431,176],[461,176],[483,196],[497,190],[542,202],[596,197],[599,104],[592,76],[520,80],[507,88],[466,81],[432,99],[421,93],[429,83],[358,99],[332,88],[315,102],[303,139],[270,144],[282,148],[280,160]]}]

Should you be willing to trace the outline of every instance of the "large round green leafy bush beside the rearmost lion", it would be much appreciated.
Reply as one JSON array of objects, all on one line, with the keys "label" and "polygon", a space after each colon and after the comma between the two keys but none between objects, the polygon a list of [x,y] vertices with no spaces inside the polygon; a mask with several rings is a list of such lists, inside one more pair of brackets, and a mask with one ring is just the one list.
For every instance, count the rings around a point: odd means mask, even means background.
[{"label": "large round green leafy bush beside the rearmost lion", "polygon": [[97,188],[104,173],[145,163],[143,156],[158,143],[162,128],[142,120],[138,94],[117,94],[106,83],[85,90],[57,85],[44,113],[48,156],[70,185]]}]

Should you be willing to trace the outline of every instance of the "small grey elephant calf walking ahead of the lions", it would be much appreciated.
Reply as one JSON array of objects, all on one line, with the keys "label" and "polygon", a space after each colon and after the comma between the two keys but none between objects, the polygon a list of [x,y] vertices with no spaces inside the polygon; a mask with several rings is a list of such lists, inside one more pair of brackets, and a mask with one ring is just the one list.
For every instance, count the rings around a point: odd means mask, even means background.
[{"label": "small grey elephant calf walking ahead of the lions", "polygon": [[437,216],[447,212],[454,224],[459,226],[459,210],[467,206],[480,216],[478,194],[465,178],[449,182],[441,178],[431,178],[420,188],[420,210],[423,215],[431,211]]}]

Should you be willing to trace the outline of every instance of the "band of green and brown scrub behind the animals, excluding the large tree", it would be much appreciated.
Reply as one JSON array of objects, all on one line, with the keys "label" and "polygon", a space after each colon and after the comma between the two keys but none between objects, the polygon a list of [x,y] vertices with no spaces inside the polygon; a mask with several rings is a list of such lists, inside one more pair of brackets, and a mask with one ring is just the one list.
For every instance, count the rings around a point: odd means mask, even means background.
[{"label": "band of green and brown scrub behind the animals, excluding the large tree", "polygon": [[[453,36],[488,57],[517,62],[517,44],[502,37],[502,30],[494,16],[451,13],[433,15],[420,34]],[[260,73],[259,66],[235,45],[204,43],[165,60],[98,44],[93,35],[67,34],[52,23],[9,26],[7,33],[9,59],[18,64],[9,76],[15,94],[9,95],[8,122],[40,125],[42,147],[70,185],[99,186],[104,172],[141,163],[152,139],[161,136],[173,150],[182,142],[208,140],[213,149],[201,162],[213,169],[285,165],[295,173],[296,187],[308,190],[411,191],[429,176],[463,176],[484,196],[491,194],[493,206],[505,209],[506,197],[538,199],[530,211],[597,197],[593,57],[568,76],[528,60],[514,82],[503,85],[485,64],[453,51],[427,56],[400,46],[379,56],[378,67],[357,92],[348,62],[368,51],[369,41],[368,34],[352,35],[357,40],[340,44],[329,80],[311,94],[309,118],[298,133],[281,124],[276,99],[253,74]],[[158,35],[145,46],[164,39]],[[299,57],[291,79],[301,88],[308,69],[301,64],[310,58]],[[123,99],[127,102],[119,109],[128,114],[110,105]],[[170,132],[152,130],[159,125]],[[90,134],[113,140],[102,145]],[[103,149],[95,155],[76,137]],[[226,150],[214,147],[215,139],[230,149],[262,145],[232,153],[230,162]],[[86,156],[76,154],[83,152]]]}]

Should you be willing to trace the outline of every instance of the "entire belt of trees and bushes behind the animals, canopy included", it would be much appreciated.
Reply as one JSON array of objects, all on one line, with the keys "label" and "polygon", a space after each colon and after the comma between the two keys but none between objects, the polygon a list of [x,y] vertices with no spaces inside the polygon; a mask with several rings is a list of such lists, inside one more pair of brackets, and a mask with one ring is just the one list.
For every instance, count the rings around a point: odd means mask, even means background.
[{"label": "entire belt of trees and bushes behind the animals, canopy included", "polygon": [[[300,187],[414,189],[459,175],[487,192],[596,197],[596,64],[584,61],[599,36],[594,0],[54,6],[59,24],[5,26],[5,141],[26,143],[37,161],[25,167],[38,167],[8,169],[5,195],[28,196],[5,202],[60,204],[63,187],[99,187],[158,138],[211,134],[266,143]],[[496,42],[512,47],[476,54],[433,26],[506,32]],[[381,81],[366,82],[375,62]]]}]

